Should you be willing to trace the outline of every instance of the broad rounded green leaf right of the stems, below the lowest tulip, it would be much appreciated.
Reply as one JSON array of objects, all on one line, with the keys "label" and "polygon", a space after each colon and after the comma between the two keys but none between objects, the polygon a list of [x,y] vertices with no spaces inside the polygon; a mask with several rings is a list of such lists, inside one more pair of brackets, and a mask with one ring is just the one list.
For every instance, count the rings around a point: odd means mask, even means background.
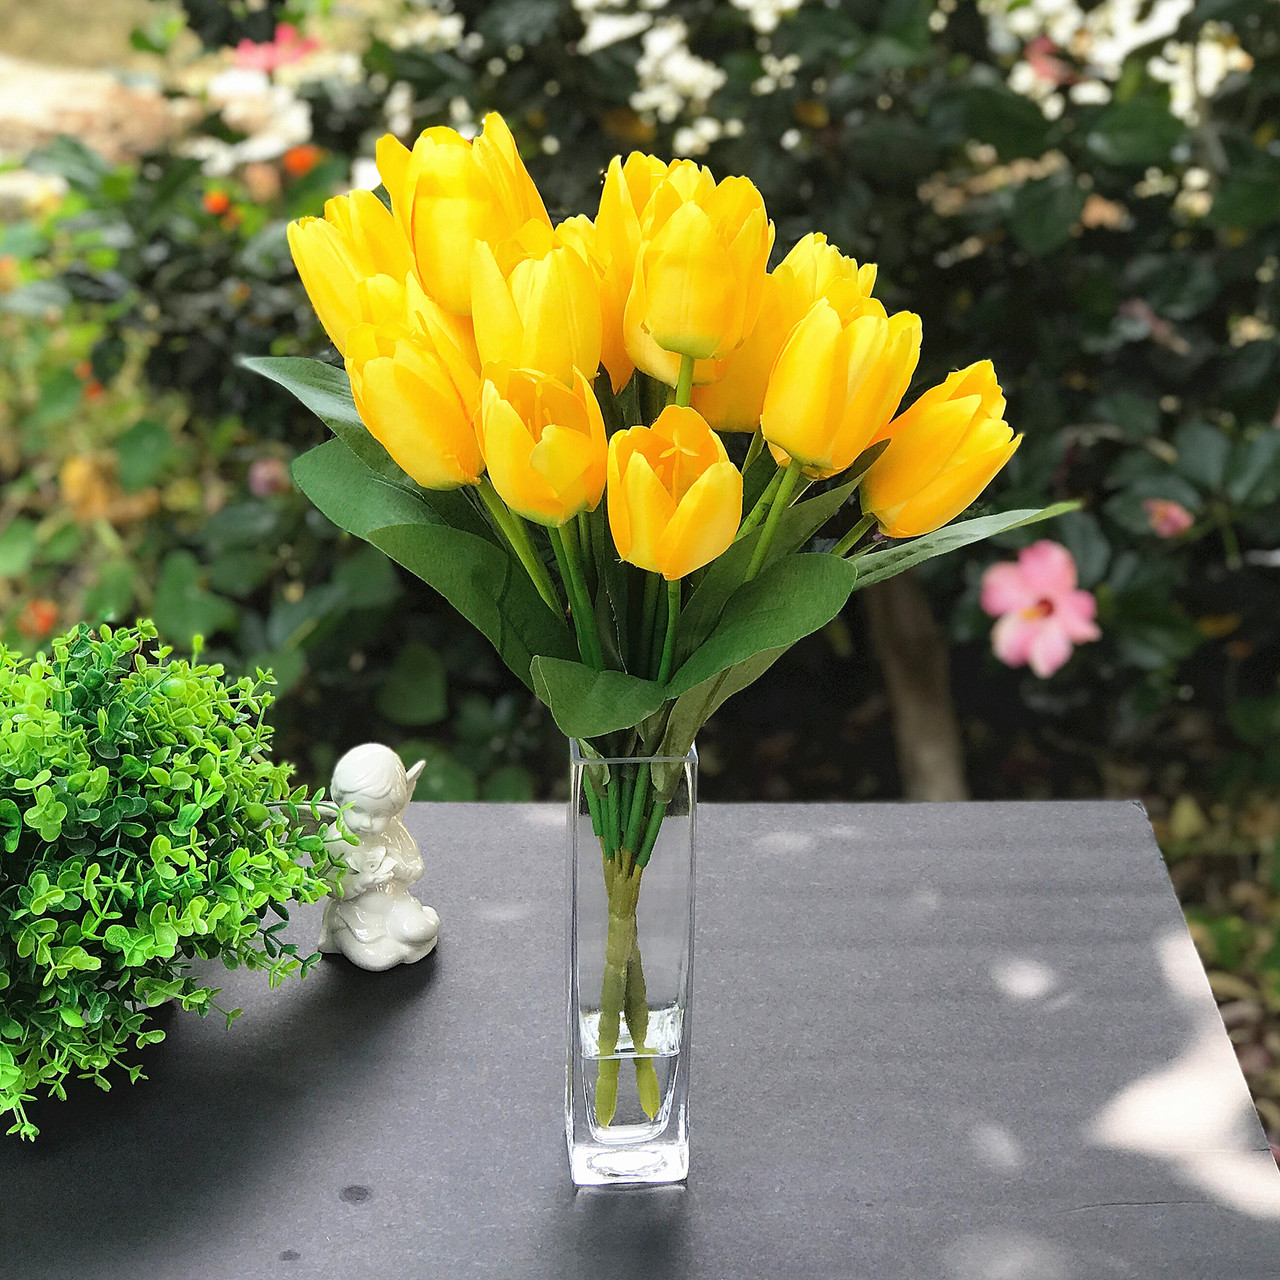
[{"label": "broad rounded green leaf right of the stems, below the lowest tulip", "polygon": [[849,599],[858,571],[828,554],[787,556],[740,586],[716,630],[694,650],[667,686],[687,692],[764,649],[786,649],[826,626]]}]

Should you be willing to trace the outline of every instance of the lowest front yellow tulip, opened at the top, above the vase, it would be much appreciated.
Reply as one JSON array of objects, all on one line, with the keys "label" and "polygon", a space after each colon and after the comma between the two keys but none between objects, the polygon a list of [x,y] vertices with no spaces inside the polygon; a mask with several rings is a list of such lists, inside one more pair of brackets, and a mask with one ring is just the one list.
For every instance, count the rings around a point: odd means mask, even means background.
[{"label": "lowest front yellow tulip, opened at the top, above the vase", "polygon": [[609,529],[618,554],[668,581],[726,550],[742,518],[742,475],[691,408],[609,440]]}]

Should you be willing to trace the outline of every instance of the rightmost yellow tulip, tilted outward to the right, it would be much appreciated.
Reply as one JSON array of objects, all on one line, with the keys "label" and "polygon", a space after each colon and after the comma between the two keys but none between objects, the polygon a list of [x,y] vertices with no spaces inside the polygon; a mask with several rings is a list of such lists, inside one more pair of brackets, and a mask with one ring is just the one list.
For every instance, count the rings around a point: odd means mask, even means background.
[{"label": "rightmost yellow tulip, tilted outward to the right", "polygon": [[1023,438],[1005,421],[989,360],[951,374],[895,419],[861,484],[863,509],[890,538],[918,538],[959,516]]}]

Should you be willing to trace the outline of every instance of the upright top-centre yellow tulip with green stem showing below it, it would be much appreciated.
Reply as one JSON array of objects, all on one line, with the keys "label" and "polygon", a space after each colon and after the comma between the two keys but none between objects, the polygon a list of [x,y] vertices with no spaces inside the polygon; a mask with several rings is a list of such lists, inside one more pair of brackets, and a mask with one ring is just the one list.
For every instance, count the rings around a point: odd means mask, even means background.
[{"label": "upright top-centre yellow tulip with green stem showing below it", "polygon": [[[675,383],[676,357],[727,356],[755,325],[772,247],[773,224],[749,179],[726,178],[717,186],[691,160],[673,164],[640,218],[623,314],[636,365]],[[695,380],[712,375],[707,367],[701,378],[695,371]]]}]

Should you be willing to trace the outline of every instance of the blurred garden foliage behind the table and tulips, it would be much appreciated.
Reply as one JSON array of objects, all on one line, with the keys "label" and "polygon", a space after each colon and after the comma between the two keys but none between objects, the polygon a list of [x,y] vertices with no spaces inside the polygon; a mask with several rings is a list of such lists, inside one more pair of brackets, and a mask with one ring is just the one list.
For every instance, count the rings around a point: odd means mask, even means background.
[{"label": "blurred garden foliage behind the table and tulips", "polygon": [[198,630],[233,667],[276,668],[278,742],[311,780],[383,737],[428,755],[420,797],[556,794],[548,719],[463,623],[307,509],[288,465],[316,428],[234,356],[325,349],[283,225],[375,184],[383,132],[471,132],[498,109],[561,212],[594,211],[608,157],[636,147],[746,173],[780,252],[824,230],[920,312],[920,385],[995,360],[1027,442],[988,500],[1084,499],[1044,536],[1101,639],[1046,677],[993,657],[983,573],[1039,530],[937,562],[724,709],[700,744],[707,795],[1140,795],[1280,1132],[1274,4],[119,14],[132,47],[102,60],[150,95],[150,116],[122,113],[160,122],[150,137],[122,125],[113,151],[55,120],[18,146],[0,95],[20,165],[0,174],[5,643],[150,611],[177,643]]}]

